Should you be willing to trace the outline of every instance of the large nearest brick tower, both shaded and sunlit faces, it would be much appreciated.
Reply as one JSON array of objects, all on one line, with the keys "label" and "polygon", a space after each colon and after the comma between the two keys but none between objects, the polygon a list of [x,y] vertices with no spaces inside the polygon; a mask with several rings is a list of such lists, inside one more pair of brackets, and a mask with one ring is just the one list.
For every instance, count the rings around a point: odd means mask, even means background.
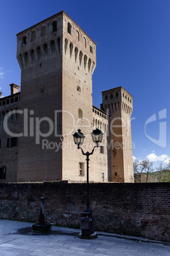
[{"label": "large nearest brick tower, both shaded and sunlit faces", "polygon": [[84,143],[91,143],[96,43],[61,11],[17,34],[17,59],[23,132],[17,181],[79,180],[85,161],[72,134],[83,127]]}]

